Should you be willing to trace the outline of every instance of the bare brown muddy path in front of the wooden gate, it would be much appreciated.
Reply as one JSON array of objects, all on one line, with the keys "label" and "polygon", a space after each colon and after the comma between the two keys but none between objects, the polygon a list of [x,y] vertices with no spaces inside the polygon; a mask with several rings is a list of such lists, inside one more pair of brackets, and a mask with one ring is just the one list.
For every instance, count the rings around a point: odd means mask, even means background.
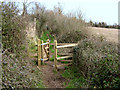
[{"label": "bare brown muddy path in front of the wooden gate", "polygon": [[68,83],[69,80],[62,77],[64,68],[59,69],[58,72],[54,70],[54,62],[47,61],[42,65],[39,70],[42,72],[42,81],[46,88],[65,88],[64,82]]}]

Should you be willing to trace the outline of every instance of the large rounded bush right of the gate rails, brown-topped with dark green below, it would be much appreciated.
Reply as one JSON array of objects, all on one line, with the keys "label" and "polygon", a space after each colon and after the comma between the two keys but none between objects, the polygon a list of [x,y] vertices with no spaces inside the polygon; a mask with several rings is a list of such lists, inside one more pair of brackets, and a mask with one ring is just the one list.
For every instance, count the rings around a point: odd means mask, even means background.
[{"label": "large rounded bush right of the gate rails, brown-topped with dark green below", "polygon": [[117,45],[100,38],[82,40],[74,48],[73,63],[91,87],[120,88]]}]

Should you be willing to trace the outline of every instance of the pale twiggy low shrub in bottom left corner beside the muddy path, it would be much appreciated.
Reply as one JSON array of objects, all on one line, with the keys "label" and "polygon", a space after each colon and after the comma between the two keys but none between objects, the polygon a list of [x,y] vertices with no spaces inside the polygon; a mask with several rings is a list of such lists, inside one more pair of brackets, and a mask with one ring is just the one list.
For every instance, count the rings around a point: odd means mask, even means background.
[{"label": "pale twiggy low shrub in bottom left corner beside the muddy path", "polygon": [[[29,59],[30,60],[30,59]],[[15,54],[2,54],[2,88],[43,88],[41,72],[26,58],[21,60]],[[39,85],[37,85],[39,83]]]}]

